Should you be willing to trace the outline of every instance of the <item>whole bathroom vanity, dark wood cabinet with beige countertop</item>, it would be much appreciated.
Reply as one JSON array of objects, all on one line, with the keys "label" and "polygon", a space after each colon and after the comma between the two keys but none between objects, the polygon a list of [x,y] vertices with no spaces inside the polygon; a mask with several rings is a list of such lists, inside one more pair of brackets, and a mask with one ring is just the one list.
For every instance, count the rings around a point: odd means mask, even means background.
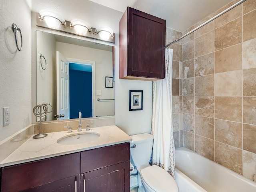
[{"label": "whole bathroom vanity, dark wood cabinet with beige countertop", "polygon": [[[114,130],[117,132],[112,134],[111,138],[110,135]],[[45,155],[39,160],[21,160],[22,155],[18,157],[20,152],[17,151],[11,154],[8,157],[9,160],[7,158],[6,163],[1,164],[1,192],[129,192],[130,144],[128,141],[131,140],[130,137],[116,126],[92,128],[92,131],[101,132],[99,133],[102,136],[101,140],[99,137],[98,140],[87,144],[71,146],[52,142],[44,146],[52,148],[52,152],[48,152],[48,155],[44,149],[38,150],[35,154],[30,152],[30,157],[36,156],[36,153]],[[104,136],[106,131],[109,131],[109,135]],[[51,143],[51,140],[56,140],[63,134],[67,133],[49,133],[46,138]],[[117,138],[118,134],[121,134],[120,139]],[[23,144],[25,146],[21,146],[20,151],[27,150],[25,153],[29,153],[30,142],[44,141],[43,138],[28,140]],[[102,145],[103,147],[100,147]],[[59,154],[56,153],[56,147],[59,147]],[[69,149],[63,152],[64,148]],[[73,150],[70,151],[70,148]],[[18,162],[23,163],[13,162],[15,158],[16,160],[20,158]],[[5,166],[8,164],[11,165]]]}]

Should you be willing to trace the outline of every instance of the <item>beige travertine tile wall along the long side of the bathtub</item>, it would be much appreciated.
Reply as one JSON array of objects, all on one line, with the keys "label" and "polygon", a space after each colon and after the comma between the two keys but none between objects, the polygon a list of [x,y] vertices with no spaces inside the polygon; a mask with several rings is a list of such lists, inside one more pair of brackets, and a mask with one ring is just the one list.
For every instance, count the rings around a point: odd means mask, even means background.
[{"label": "beige travertine tile wall along the long side of the bathtub", "polygon": [[[174,117],[183,112],[184,146],[252,179],[256,174],[256,0],[246,0],[184,38],[181,65],[183,85],[177,97],[183,111],[174,110]],[[176,100],[173,96],[175,104]]]}]

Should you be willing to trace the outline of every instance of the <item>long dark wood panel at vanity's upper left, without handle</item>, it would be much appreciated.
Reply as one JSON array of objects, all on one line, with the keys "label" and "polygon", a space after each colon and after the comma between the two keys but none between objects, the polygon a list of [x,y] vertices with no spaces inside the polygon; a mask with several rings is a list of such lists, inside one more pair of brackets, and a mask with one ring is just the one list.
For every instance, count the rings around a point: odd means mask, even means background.
[{"label": "long dark wood panel at vanity's upper left, without handle", "polygon": [[2,168],[2,192],[17,192],[80,174],[80,153]]}]

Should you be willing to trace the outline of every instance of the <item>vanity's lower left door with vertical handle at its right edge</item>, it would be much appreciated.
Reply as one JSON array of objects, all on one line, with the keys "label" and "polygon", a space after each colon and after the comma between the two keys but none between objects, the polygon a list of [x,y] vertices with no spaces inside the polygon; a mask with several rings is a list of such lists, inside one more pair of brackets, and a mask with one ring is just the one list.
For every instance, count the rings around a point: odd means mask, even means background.
[{"label": "vanity's lower left door with vertical handle at its right edge", "polygon": [[74,176],[38,187],[23,190],[21,192],[79,192],[80,191],[80,176]]}]

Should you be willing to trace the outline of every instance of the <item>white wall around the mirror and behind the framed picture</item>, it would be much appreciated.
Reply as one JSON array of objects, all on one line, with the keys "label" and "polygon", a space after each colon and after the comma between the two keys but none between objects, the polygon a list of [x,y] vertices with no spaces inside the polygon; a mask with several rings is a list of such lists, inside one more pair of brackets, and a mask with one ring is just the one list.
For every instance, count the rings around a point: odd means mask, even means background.
[{"label": "white wall around the mirror and behind the framed picture", "polygon": [[[36,2],[35,5],[33,2]],[[72,6],[70,6],[70,2],[67,0],[54,1],[48,3],[44,3],[44,1],[33,0],[32,6],[35,6],[34,10],[39,11],[39,9],[50,9],[50,10],[58,10],[59,13],[65,15],[65,19],[72,19],[72,14],[80,14],[79,10],[72,10]],[[60,7],[56,7],[58,4],[61,4]],[[38,8],[40,6],[40,8]],[[116,34],[116,43],[115,46],[115,117],[116,117],[116,125],[120,127],[124,132],[129,135],[138,134],[143,132],[150,133],[151,130],[151,117],[152,117],[152,82],[151,81],[139,81],[139,80],[120,80],[119,79],[119,20],[122,17],[122,13],[116,10],[112,10],[110,8],[106,8],[104,6],[100,6],[93,2],[84,1],[84,6],[87,11],[82,11],[79,18],[82,20],[86,20],[90,22],[92,27],[96,27],[100,24],[105,23],[107,26],[114,30]],[[32,7],[33,9],[33,7]],[[68,14],[65,14],[65,13]],[[71,16],[70,16],[71,15]],[[68,18],[70,17],[70,18]],[[36,30],[42,30],[47,32],[53,32],[48,29],[36,27],[35,24],[36,15],[32,13],[32,47],[35,46],[36,37],[34,35]],[[89,19],[89,20],[88,20]],[[53,32],[56,34],[64,34],[61,32]],[[74,36],[71,34],[64,34],[66,36],[71,36],[75,38],[84,39],[79,36]],[[89,41],[100,42],[97,40],[86,39]],[[101,42],[102,43],[102,42]],[[106,43],[112,45],[111,43]],[[35,96],[35,74],[36,70],[34,69],[35,62],[35,53],[33,53],[32,49],[32,104],[36,102]],[[143,90],[143,110],[141,111],[129,111],[129,90]],[[34,118],[33,118],[34,119]]]}]

